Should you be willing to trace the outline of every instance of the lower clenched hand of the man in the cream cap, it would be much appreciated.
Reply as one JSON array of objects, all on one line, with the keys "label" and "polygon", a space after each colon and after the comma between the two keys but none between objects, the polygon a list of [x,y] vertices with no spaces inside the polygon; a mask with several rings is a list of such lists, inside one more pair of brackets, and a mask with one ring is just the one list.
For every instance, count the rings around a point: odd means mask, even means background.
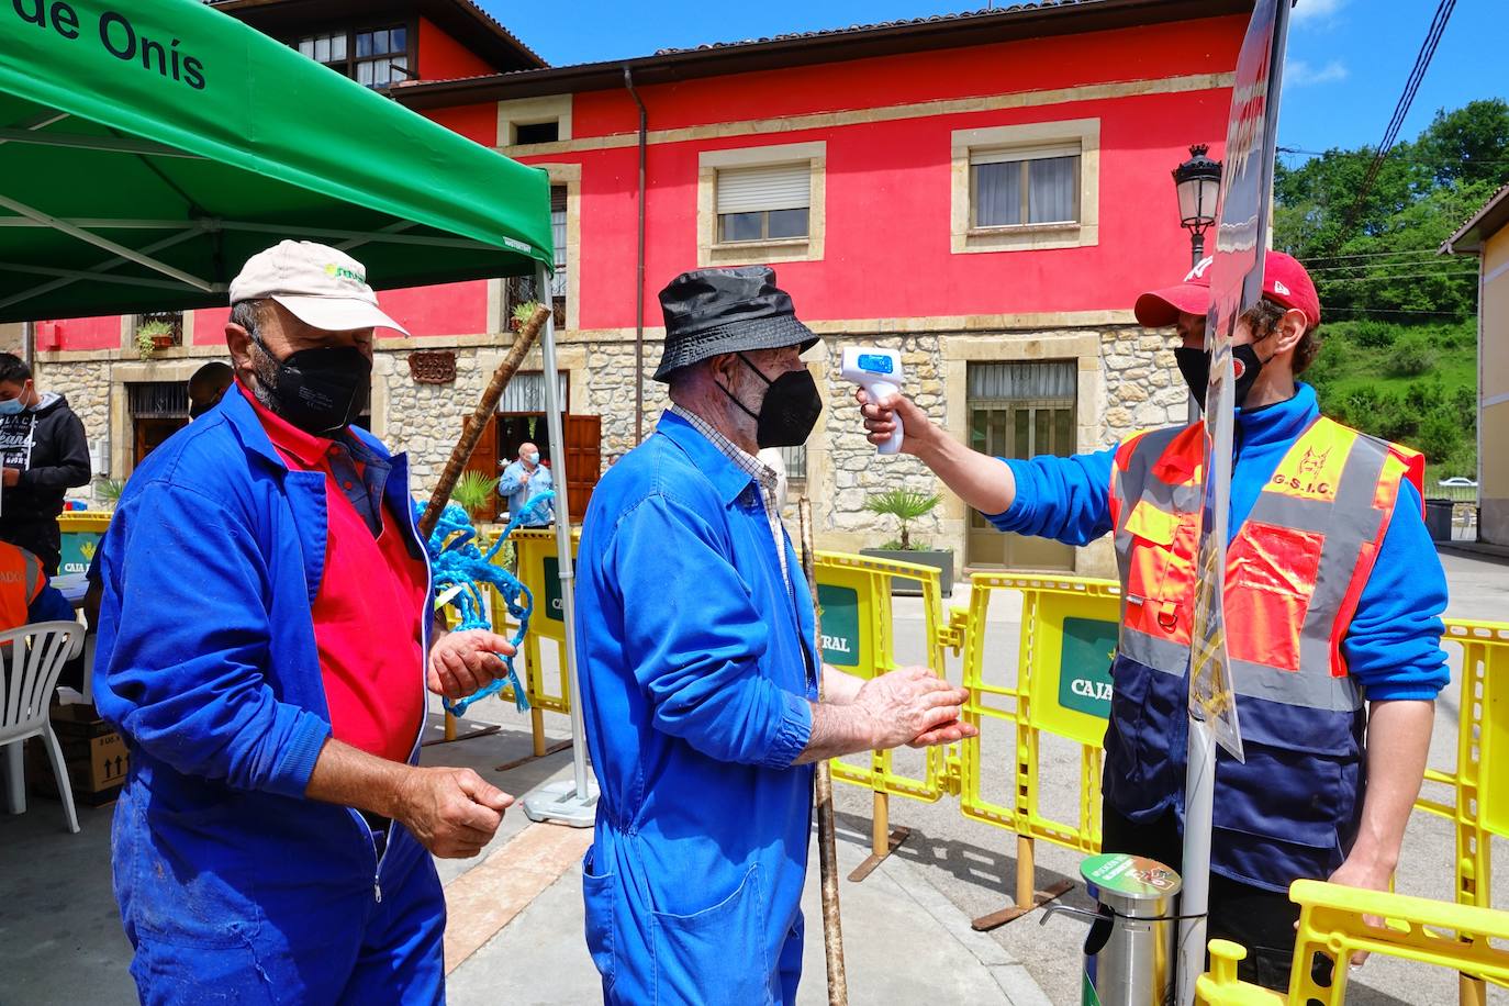
[{"label": "lower clenched hand of the man in the cream cap", "polygon": [[512,804],[471,769],[415,768],[398,787],[394,817],[435,855],[466,860],[492,842]]}]

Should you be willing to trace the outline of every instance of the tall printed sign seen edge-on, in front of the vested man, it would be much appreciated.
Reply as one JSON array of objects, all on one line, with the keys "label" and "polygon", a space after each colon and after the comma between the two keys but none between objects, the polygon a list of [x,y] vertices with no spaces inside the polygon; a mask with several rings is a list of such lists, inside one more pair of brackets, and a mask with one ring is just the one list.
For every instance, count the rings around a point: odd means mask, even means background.
[{"label": "tall printed sign seen edge-on, in front of the vested man", "polygon": [[1189,668],[1189,712],[1215,739],[1242,760],[1242,728],[1225,644],[1225,546],[1231,504],[1231,439],[1234,367],[1231,336],[1237,318],[1263,296],[1268,213],[1274,198],[1274,155],[1278,143],[1278,89],[1284,63],[1289,5],[1262,0],[1237,57],[1231,118],[1227,124],[1225,166],[1221,173],[1221,216],[1215,261],[1210,264],[1210,314],[1206,350],[1210,386],[1206,391],[1204,513],[1200,523],[1195,617]]}]

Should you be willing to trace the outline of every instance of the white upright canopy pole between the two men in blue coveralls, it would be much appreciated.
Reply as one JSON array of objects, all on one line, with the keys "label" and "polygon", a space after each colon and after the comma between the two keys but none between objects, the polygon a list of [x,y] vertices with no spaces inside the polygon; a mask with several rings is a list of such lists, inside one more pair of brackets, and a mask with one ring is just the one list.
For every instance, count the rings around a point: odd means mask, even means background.
[{"label": "white upright canopy pole between the two men in blue coveralls", "polygon": [[[534,270],[534,291],[546,308],[549,273]],[[545,354],[545,428],[551,437],[551,481],[555,486],[555,557],[561,581],[561,617],[566,626],[566,700],[570,704],[572,780],[542,786],[524,799],[530,820],[554,820],[572,828],[590,828],[598,816],[598,795],[587,778],[587,738],[581,724],[581,683],[576,677],[576,569],[570,557],[570,496],[566,484],[566,437],[560,373],[555,367],[555,311],[540,335]]]}]

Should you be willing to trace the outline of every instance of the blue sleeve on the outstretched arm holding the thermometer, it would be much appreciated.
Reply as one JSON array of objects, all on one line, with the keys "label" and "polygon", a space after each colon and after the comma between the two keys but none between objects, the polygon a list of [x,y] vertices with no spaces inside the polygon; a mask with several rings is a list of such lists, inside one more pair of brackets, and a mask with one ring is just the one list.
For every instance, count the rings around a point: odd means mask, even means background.
[{"label": "blue sleeve on the outstretched arm holding the thermometer", "polygon": [[1005,513],[984,516],[997,531],[1089,544],[1111,531],[1115,457],[1111,446],[1073,457],[1002,459],[1017,480],[1017,495]]}]

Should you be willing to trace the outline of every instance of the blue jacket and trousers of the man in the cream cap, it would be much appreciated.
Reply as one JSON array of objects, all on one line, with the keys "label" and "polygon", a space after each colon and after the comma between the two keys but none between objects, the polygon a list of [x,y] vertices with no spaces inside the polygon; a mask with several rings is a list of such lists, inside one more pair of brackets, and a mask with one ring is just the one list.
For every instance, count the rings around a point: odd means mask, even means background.
[{"label": "blue jacket and trousers of the man in the cream cap", "polygon": [[[400,454],[385,504],[423,555],[407,483]],[[359,813],[303,798],[330,736],[326,526],[324,475],[288,471],[229,394],[133,474],[104,537],[94,691],[131,754],[112,864],[143,1001],[442,998],[429,854],[392,824],[379,860]]]}]

